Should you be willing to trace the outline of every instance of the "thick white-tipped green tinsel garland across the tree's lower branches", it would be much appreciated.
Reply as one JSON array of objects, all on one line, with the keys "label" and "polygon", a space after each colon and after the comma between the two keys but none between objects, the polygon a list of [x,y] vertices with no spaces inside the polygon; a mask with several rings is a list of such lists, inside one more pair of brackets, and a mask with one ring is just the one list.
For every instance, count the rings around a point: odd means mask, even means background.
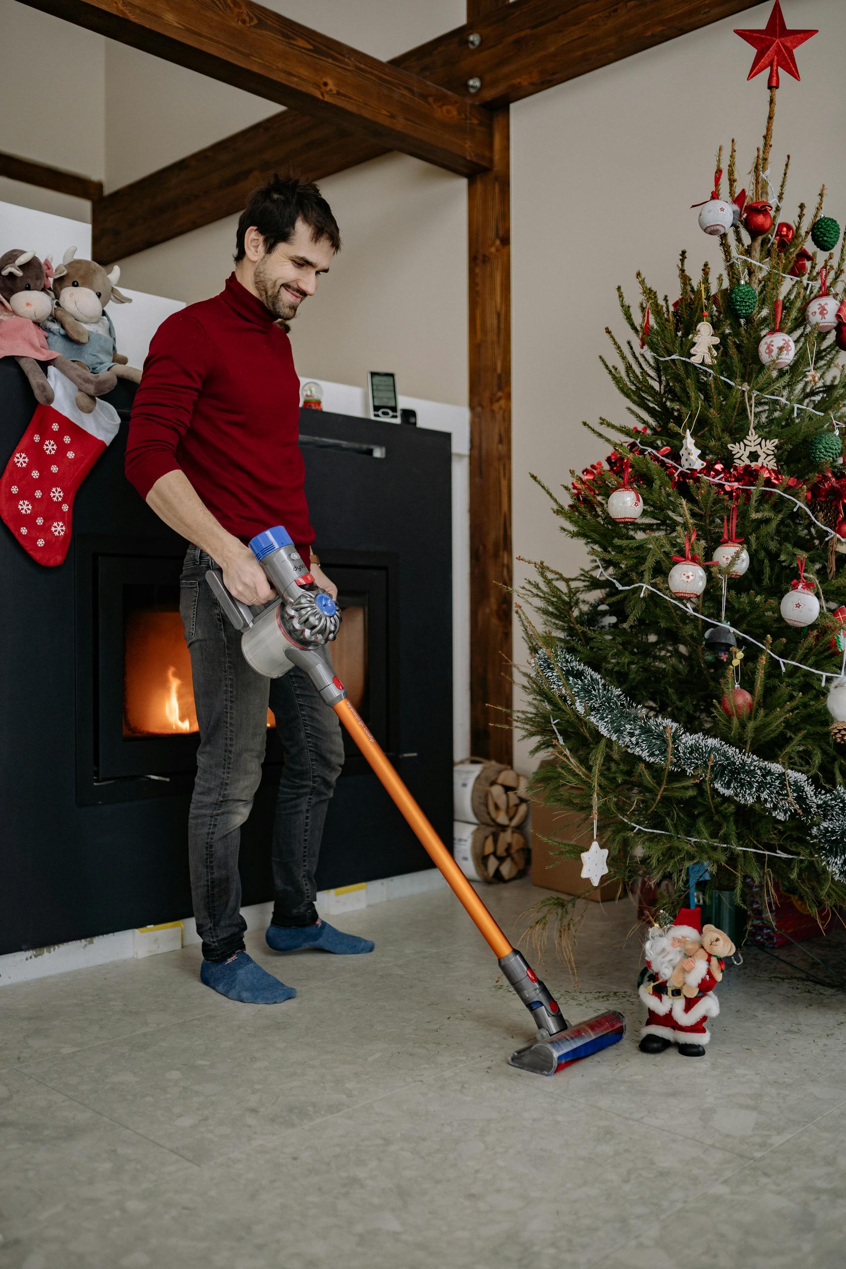
[{"label": "thick white-tipped green tinsel garland across the tree's lower branches", "polygon": [[846,788],[818,788],[802,772],[766,763],[723,740],[687,732],[670,718],[648,714],[561,643],[554,660],[549,652],[538,651],[534,664],[559,700],[572,695],[576,709],[627,753],[663,766],[670,744],[671,769],[708,777],[719,793],[746,806],[758,803],[774,820],[813,821],[809,839],[818,844],[832,876],[846,881]]}]

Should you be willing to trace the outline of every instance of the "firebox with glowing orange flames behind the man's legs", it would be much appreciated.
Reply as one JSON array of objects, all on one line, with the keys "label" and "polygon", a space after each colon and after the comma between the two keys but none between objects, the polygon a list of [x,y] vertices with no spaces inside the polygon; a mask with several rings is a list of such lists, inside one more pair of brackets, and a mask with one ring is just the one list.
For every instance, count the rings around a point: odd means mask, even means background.
[{"label": "firebox with glowing orange flames behind the man's legs", "polygon": [[[77,610],[93,618],[89,633],[84,622],[77,631],[82,645],[90,638],[90,656],[77,660],[79,751],[90,754],[88,769],[77,766],[82,802],[183,792],[197,765],[199,728],[179,612],[181,557],[137,546],[115,553],[95,541],[77,544]],[[384,553],[325,553],[323,567],[339,588],[344,613],[332,646],[335,669],[379,742],[396,751],[389,655],[396,560]],[[361,758],[349,737],[345,746],[345,772],[359,772]],[[282,761],[270,730],[265,766],[278,774]]]}]

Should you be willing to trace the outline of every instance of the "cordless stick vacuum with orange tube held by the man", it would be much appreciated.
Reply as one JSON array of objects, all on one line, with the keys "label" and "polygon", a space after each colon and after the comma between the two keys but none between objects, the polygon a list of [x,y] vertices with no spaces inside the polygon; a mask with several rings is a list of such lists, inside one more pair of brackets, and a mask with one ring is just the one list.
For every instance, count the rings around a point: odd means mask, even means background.
[{"label": "cordless stick vacuum with orange tube held by the man", "polygon": [[525,957],[511,947],[354,709],[335,674],[329,650],[340,628],[340,610],[332,596],[317,586],[287,530],[282,527],[266,529],[252,538],[250,548],[279,596],[266,607],[250,608],[235,599],[217,569],[205,574],[225,614],[236,629],[244,631],[241,647],[245,657],[254,670],[270,679],[280,678],[294,665],[308,675],[464,905],[497,957],[504,975],[530,1011],[538,1032],[537,1043],[511,1055],[511,1065],[540,1075],[554,1075],[563,1066],[616,1043],[625,1030],[623,1014],[616,1011],[600,1014],[578,1027],[567,1025],[558,1003]]}]

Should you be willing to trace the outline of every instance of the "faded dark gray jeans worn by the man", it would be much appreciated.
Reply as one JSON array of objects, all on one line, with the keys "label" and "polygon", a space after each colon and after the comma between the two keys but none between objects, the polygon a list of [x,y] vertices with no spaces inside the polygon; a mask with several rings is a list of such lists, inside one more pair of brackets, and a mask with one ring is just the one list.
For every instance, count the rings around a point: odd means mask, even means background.
[{"label": "faded dark gray jeans worn by the man", "polygon": [[315,872],[344,742],[337,717],[302,670],[265,679],[247,665],[241,634],[205,581],[212,567],[213,560],[189,547],[180,577],[200,733],[188,850],[203,956],[226,961],[244,948],[238,846],[261,780],[268,704],[284,750],[271,850],[277,925],[317,920]]}]

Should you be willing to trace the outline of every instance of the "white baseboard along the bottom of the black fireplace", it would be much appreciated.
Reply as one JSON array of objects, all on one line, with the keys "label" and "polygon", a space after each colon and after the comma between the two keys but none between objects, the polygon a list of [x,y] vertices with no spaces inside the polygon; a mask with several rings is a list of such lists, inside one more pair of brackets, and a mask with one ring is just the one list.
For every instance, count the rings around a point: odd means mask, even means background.
[{"label": "white baseboard along the bottom of the black fireplace", "polygon": [[[321,916],[339,916],[359,907],[383,904],[389,898],[407,898],[427,890],[439,890],[445,884],[436,868],[425,868],[401,877],[383,877],[381,881],[360,882],[358,886],[322,890],[317,895],[316,906]],[[247,930],[265,929],[271,912],[271,902],[252,904],[241,909]],[[172,952],[179,947],[199,943],[194,917],[186,916],[181,921],[146,925],[140,930],[119,930],[117,934],[99,934],[96,938],[79,939],[74,943],[9,952],[6,956],[0,956],[0,987],[8,987],[14,982],[29,982],[33,978],[47,978],[53,973],[67,973],[71,970],[89,970],[91,966],[108,964],[110,961],[132,961],[159,952]]]}]

